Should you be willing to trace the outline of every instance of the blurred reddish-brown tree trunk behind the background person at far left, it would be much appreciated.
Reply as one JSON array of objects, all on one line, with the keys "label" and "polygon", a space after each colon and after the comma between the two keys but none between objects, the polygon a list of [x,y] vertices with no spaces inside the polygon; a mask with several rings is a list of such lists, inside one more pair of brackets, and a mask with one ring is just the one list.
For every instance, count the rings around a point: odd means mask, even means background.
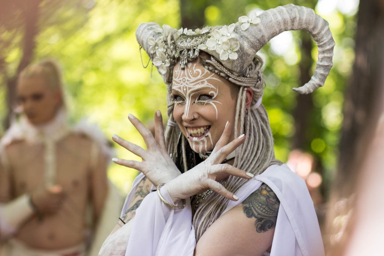
[{"label": "blurred reddish-brown tree trunk behind the background person at far left", "polygon": [[16,106],[16,82],[18,74],[30,64],[33,58],[33,50],[35,50],[35,38],[38,34],[38,19],[40,3],[43,0],[19,1],[17,6],[21,11],[20,17],[23,19],[23,46],[22,57],[18,64],[17,71],[14,76],[7,77],[7,118],[5,119],[5,128],[10,125],[13,115],[13,108]]}]

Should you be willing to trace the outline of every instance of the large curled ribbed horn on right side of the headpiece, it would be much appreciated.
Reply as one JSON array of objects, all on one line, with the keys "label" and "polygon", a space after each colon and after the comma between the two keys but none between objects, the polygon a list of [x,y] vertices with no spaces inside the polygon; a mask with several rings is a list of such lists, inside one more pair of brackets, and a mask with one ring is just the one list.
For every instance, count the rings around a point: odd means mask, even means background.
[{"label": "large curled ribbed horn on right side of the headpiece", "polygon": [[[246,31],[236,30],[239,38],[243,38],[254,50],[248,56],[249,59],[240,58],[238,61],[250,63],[263,45],[283,31],[305,30],[310,33],[318,46],[318,62],[311,80],[293,90],[301,94],[308,94],[323,86],[329,70],[333,66],[332,56],[335,45],[328,22],[314,13],[312,9],[293,4],[266,10],[258,15],[258,18],[261,20],[258,25],[251,25]],[[235,64],[235,66],[237,65]]]}]

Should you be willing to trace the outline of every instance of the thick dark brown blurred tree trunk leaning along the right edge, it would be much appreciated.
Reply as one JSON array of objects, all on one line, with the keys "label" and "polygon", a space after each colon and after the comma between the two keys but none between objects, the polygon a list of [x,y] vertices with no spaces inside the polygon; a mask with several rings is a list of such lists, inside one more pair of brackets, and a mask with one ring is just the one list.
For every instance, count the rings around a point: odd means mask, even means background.
[{"label": "thick dark brown blurred tree trunk leaning along the right edge", "polygon": [[[334,220],[348,216],[354,205],[356,181],[358,175],[364,175],[360,166],[364,149],[383,110],[384,1],[366,0],[360,3],[355,63],[345,92],[338,172],[327,216],[329,237],[324,239],[329,255],[341,255],[352,233],[353,217],[351,221],[344,221],[343,225],[334,224]],[[344,233],[340,233],[343,230]]]}]

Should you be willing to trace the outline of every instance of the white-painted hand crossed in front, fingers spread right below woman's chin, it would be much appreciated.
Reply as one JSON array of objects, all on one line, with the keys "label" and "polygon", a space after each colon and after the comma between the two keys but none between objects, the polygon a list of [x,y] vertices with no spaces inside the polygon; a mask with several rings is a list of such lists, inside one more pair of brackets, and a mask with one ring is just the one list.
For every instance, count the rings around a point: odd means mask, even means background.
[{"label": "white-painted hand crossed in front, fingers spread right below woman's chin", "polygon": [[229,192],[218,182],[220,177],[234,175],[250,179],[253,177],[253,174],[247,173],[229,164],[221,164],[233,150],[245,141],[245,135],[242,134],[228,143],[230,133],[231,127],[227,122],[223,134],[216,143],[210,156],[188,172],[182,173],[175,179],[166,183],[165,188],[175,204],[181,199],[191,197],[208,189],[212,189],[230,200],[238,200],[236,195]]}]

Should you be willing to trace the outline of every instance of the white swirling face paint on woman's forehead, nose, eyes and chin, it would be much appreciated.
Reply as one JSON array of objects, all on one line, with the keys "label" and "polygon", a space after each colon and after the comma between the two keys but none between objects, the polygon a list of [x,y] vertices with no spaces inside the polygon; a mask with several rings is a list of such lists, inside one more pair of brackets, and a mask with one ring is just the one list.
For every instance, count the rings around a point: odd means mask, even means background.
[{"label": "white swirling face paint on woman's forehead, nose, eyes and chin", "polygon": [[[216,105],[222,103],[215,100],[218,94],[218,87],[213,85],[212,82],[215,81],[219,84],[222,81],[214,76],[215,73],[205,69],[202,65],[199,66],[201,68],[196,66],[196,63],[188,63],[187,68],[184,70],[180,68],[174,70],[172,81],[172,91],[176,94],[174,104],[179,106],[185,105],[183,119],[188,119],[188,117],[192,119],[189,116],[192,104],[210,104],[215,109],[217,120],[218,109]],[[208,91],[208,93],[201,94],[202,91]],[[207,138],[210,140],[209,146],[213,146],[210,127],[187,128],[183,126],[180,128],[185,129],[189,144],[195,152],[202,153],[207,151]]]}]

